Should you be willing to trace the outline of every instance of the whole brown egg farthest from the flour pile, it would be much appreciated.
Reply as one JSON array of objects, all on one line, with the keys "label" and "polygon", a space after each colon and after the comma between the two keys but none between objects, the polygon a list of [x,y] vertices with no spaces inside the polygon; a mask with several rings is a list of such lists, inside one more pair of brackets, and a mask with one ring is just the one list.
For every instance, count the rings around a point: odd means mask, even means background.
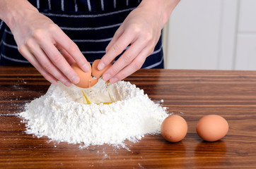
[{"label": "whole brown egg farthest from the flour pile", "polygon": [[222,139],[228,133],[228,122],[220,115],[206,115],[197,123],[197,134],[207,142]]}]

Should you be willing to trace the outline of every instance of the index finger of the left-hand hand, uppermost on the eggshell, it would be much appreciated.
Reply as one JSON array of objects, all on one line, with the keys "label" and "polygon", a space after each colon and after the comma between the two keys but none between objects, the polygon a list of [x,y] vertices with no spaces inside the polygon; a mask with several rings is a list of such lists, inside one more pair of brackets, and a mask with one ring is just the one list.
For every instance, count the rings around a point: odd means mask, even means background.
[{"label": "index finger of the left-hand hand, uppermost on the eggshell", "polygon": [[71,41],[71,39],[59,27],[56,27],[55,29],[56,31],[54,30],[52,35],[57,43],[57,48],[65,49],[70,54],[70,56],[74,58],[79,67],[83,71],[88,72],[90,70],[90,66],[88,65],[86,58],[78,49],[78,46],[73,41]]}]

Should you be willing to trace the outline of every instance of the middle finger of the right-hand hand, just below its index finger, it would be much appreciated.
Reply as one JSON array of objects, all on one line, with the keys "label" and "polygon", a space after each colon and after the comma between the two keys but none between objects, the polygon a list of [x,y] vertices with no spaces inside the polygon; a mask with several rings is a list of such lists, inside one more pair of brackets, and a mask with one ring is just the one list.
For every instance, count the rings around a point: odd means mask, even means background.
[{"label": "middle finger of the right-hand hand, just below its index finger", "polygon": [[117,59],[117,61],[109,69],[105,71],[103,75],[103,80],[110,80],[110,78],[119,73],[120,70],[122,70],[127,65],[132,63],[134,58],[139,55],[139,53],[144,49],[144,47],[144,42],[142,42],[139,39],[136,42],[134,42],[134,44],[129,46],[129,48],[126,51],[124,51],[124,54],[122,54],[122,56],[120,56],[120,58]]}]

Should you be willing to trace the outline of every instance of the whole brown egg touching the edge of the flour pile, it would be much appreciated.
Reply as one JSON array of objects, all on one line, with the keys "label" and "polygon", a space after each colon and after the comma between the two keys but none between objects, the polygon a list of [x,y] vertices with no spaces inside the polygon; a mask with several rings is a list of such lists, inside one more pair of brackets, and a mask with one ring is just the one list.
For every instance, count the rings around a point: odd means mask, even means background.
[{"label": "whole brown egg touching the edge of the flour pile", "polygon": [[163,120],[161,134],[169,142],[180,142],[187,134],[187,122],[180,115],[170,115]]}]

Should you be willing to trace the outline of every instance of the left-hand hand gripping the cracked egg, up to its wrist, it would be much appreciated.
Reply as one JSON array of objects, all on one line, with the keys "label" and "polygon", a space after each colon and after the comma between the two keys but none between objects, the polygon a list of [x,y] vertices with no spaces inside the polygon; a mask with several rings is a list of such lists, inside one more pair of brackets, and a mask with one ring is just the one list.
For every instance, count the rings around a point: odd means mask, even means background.
[{"label": "left-hand hand gripping the cracked egg, up to its wrist", "polygon": [[57,80],[66,86],[78,83],[79,77],[70,66],[74,62],[88,72],[90,63],[78,46],[37,10],[26,11],[25,17],[17,16],[11,32],[18,51],[52,84]]}]

